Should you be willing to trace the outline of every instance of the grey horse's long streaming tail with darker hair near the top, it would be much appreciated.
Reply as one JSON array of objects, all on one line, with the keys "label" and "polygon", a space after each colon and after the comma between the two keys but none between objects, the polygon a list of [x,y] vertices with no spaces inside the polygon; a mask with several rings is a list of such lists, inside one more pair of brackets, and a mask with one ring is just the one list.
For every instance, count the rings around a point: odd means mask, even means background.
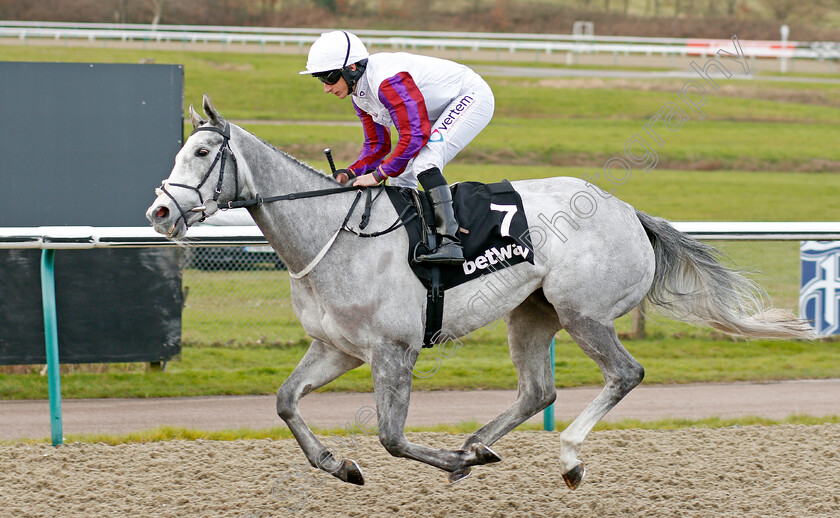
[{"label": "grey horse's long streaming tail with darker hair near the top", "polygon": [[764,307],[765,292],[738,271],[723,266],[720,253],[667,221],[636,211],[653,245],[656,270],[647,299],[666,316],[718,331],[763,338],[813,339],[807,321]]}]

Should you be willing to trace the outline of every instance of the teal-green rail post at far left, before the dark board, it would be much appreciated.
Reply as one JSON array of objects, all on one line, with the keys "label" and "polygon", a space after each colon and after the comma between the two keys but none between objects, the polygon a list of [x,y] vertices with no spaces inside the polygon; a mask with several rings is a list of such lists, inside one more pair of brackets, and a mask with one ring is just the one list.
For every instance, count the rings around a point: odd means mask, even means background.
[{"label": "teal-green rail post at far left, before the dark board", "polygon": [[47,344],[47,376],[50,387],[50,429],[53,446],[64,443],[61,426],[61,372],[58,361],[58,319],[55,312],[55,250],[41,251],[41,304],[44,307],[44,338]]}]

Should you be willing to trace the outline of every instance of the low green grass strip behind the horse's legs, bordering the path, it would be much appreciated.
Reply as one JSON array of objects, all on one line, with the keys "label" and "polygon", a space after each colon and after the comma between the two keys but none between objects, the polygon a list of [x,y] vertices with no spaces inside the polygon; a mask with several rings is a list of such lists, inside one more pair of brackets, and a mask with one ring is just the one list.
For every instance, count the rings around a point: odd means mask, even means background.
[{"label": "low green grass strip behind the horse's legs, bordering the path", "polygon": [[[415,390],[515,389],[516,371],[504,338],[504,324],[463,340],[455,354],[424,350],[414,378]],[[732,341],[704,330],[651,330],[652,337],[624,340],[647,371],[645,383],[761,381],[840,377],[840,344],[784,341]],[[167,397],[272,394],[288,377],[306,345],[283,347],[187,347],[180,362],[163,373],[75,372],[62,375],[65,398]],[[436,367],[437,366],[437,367]],[[599,385],[595,363],[560,333],[555,345],[558,387]],[[47,378],[38,374],[0,374],[0,399],[45,399]],[[330,383],[324,391],[370,392],[370,367],[364,365]]]}]

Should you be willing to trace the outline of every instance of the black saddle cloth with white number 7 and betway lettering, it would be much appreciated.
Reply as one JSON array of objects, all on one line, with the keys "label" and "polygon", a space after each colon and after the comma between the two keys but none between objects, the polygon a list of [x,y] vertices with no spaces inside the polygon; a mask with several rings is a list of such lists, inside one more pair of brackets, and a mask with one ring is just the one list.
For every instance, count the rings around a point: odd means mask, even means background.
[{"label": "black saddle cloth with white number 7 and betway lettering", "polygon": [[[464,246],[466,262],[463,265],[439,266],[445,289],[524,261],[534,263],[522,198],[510,182],[462,182],[451,186],[451,190],[455,216],[461,227],[458,237]],[[414,257],[428,250],[424,236],[433,232],[434,228],[431,207],[426,196],[413,189],[386,187],[386,192],[397,213],[402,214],[403,221],[407,222],[409,264],[428,288],[431,265],[415,263]],[[422,207],[421,217],[415,216],[418,201]]]}]

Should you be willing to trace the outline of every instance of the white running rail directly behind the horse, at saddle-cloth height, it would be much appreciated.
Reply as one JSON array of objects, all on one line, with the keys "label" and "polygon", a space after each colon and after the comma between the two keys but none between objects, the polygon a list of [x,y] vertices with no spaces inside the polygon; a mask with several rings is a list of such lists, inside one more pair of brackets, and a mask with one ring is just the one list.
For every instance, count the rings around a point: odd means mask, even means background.
[{"label": "white running rail directly behind the horse, at saddle-cloth height", "polygon": [[[840,222],[673,222],[697,239],[731,241],[840,240]],[[265,245],[259,228],[248,226],[190,229],[187,246]],[[91,249],[181,246],[151,227],[0,227],[0,248]]]}]

